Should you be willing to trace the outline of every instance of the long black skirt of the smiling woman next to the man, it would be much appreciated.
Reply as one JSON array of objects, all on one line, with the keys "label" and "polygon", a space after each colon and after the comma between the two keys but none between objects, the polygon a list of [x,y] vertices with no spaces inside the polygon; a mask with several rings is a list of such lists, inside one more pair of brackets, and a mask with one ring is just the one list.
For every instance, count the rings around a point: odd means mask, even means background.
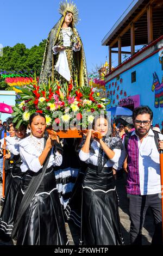
[{"label": "long black skirt of the smiling woman next to the man", "polygon": [[118,199],[112,168],[89,164],[82,184],[82,237],[84,245],[123,245]]}]

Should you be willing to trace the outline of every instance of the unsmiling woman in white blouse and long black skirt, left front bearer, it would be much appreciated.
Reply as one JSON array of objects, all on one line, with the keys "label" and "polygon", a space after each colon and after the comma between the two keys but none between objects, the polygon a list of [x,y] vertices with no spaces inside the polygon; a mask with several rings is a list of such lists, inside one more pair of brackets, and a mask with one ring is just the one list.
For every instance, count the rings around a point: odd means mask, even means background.
[{"label": "unsmiling woman in white blouse and long black skirt, left front bearer", "polygon": [[30,115],[31,134],[18,142],[22,159],[22,200],[12,230],[17,245],[66,245],[64,216],[53,167],[60,166],[59,138],[47,136],[46,118]]}]

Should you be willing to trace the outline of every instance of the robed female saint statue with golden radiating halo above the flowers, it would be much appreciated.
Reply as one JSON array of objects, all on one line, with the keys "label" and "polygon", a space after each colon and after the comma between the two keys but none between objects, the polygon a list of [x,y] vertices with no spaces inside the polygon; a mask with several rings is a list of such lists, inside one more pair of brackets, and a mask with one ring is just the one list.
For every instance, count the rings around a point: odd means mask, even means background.
[{"label": "robed female saint statue with golden radiating halo above the flowers", "polygon": [[74,26],[78,20],[78,10],[73,3],[60,3],[62,15],[48,35],[43,56],[39,83],[58,80],[61,86],[87,86],[87,69],[84,47]]}]

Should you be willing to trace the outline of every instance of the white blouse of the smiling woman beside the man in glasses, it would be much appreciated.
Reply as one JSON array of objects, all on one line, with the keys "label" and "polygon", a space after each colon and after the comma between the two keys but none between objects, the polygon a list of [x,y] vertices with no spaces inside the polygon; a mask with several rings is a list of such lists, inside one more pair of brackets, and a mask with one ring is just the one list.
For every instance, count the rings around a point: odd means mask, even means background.
[{"label": "white blouse of the smiling woman beside the man in glasses", "polygon": [[[93,141],[91,144],[92,148],[95,150],[95,153],[84,153],[83,150],[81,149],[79,152],[79,157],[80,160],[86,163],[91,163],[95,166],[98,166],[98,153],[99,153],[99,147],[100,143],[97,141]],[[115,152],[114,157],[112,159],[108,159],[108,161],[105,163],[104,167],[112,167],[114,163],[116,163],[121,155],[121,149],[114,149]]]}]

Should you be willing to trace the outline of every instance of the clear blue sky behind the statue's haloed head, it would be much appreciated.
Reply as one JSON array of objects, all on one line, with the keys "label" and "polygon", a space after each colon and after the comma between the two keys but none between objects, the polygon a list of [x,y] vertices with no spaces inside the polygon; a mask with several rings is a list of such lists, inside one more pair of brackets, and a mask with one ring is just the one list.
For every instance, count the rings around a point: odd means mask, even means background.
[{"label": "clear blue sky behind the statue's haloed head", "polygon": [[[101,41],[132,0],[74,0],[80,22],[77,26],[82,38],[87,70],[105,63],[108,47]],[[14,46],[23,43],[27,48],[46,39],[60,18],[60,0],[1,0],[0,44]],[[112,65],[116,65],[115,59]]]}]

